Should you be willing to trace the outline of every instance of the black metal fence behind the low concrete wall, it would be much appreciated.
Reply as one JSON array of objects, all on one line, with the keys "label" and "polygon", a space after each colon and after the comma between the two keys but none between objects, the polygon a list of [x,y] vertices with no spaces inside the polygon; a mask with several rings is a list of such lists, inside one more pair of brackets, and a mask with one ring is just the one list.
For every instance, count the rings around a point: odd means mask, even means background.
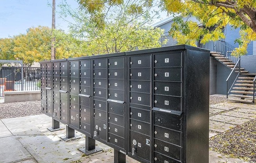
[{"label": "black metal fence behind the low concrete wall", "polygon": [[40,67],[0,67],[0,96],[4,91],[40,90]]}]

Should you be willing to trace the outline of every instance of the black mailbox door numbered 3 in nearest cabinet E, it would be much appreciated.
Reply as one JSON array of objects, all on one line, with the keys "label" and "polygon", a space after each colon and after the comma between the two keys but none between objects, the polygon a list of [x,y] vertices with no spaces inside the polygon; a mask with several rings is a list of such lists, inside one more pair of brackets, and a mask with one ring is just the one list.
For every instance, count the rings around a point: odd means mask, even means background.
[{"label": "black mailbox door numbered 3 in nearest cabinet E", "polygon": [[150,81],[130,81],[130,91],[150,93]]}]

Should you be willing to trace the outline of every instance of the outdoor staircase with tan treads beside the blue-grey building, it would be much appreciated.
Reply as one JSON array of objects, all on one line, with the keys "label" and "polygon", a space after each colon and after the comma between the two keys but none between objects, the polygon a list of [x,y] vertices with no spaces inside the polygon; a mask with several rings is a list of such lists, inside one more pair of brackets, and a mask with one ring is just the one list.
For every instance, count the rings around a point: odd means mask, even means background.
[{"label": "outdoor staircase with tan treads beside the blue-grey building", "polygon": [[[240,67],[240,59],[227,58],[218,52],[210,52],[220,63],[232,69],[227,78],[227,100],[241,103],[254,103],[256,91],[256,74],[250,74]],[[232,94],[231,94],[232,93]]]}]

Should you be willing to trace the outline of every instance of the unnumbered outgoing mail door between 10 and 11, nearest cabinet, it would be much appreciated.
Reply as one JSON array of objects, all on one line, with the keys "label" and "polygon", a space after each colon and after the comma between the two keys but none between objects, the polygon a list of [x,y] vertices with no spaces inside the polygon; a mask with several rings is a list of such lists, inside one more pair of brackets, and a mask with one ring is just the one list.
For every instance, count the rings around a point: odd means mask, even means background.
[{"label": "unnumbered outgoing mail door between 10 and 11, nearest cabinet", "polygon": [[154,125],[181,131],[181,116],[154,112]]}]

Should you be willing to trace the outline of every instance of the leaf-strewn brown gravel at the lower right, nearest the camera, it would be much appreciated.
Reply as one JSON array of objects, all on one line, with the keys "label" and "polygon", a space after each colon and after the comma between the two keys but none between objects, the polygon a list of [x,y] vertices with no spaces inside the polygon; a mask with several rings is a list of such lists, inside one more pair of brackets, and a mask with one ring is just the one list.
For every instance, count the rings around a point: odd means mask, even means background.
[{"label": "leaf-strewn brown gravel at the lower right, nearest the camera", "polygon": [[256,119],[210,138],[210,149],[256,163]]}]

